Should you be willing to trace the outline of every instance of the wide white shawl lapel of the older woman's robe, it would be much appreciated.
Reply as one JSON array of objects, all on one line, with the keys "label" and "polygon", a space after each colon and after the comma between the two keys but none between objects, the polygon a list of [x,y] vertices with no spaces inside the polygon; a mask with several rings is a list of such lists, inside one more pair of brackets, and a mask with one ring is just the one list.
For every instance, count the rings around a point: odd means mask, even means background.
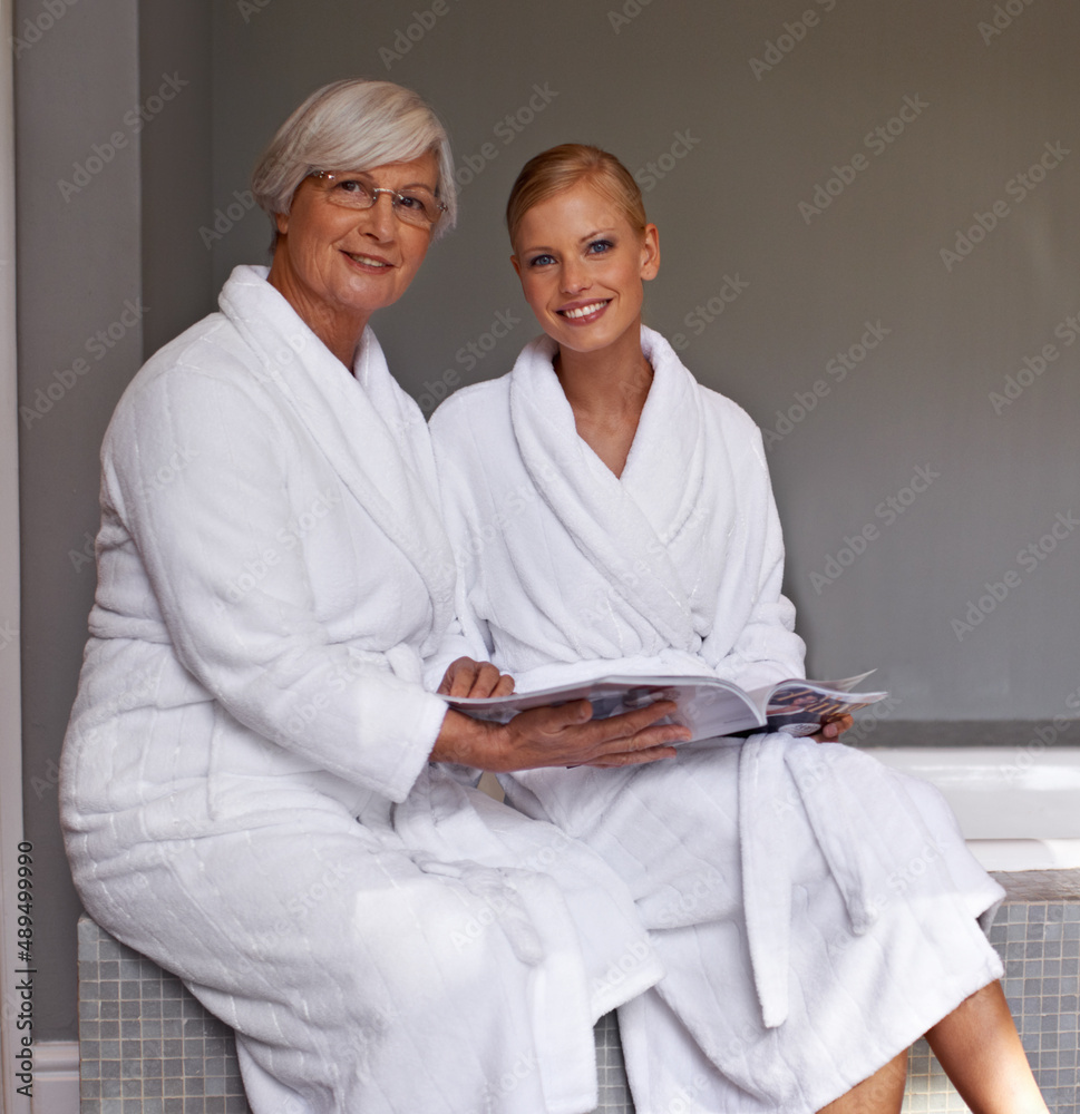
[{"label": "wide white shawl lapel of the older woman's robe", "polygon": [[264,267],[237,267],[222,291],[222,312],[344,486],[424,580],[432,624],[421,653],[429,654],[453,617],[455,574],[432,497],[424,417],[391,377],[370,329],[350,375],[265,275]]}]

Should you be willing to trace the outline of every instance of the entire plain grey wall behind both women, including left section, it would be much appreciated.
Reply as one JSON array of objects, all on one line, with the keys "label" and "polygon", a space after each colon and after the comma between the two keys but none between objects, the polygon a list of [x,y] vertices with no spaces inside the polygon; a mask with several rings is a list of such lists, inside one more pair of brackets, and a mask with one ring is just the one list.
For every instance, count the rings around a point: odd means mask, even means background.
[{"label": "entire plain grey wall behind both women, including left section", "polygon": [[[522,163],[568,139],[606,146],[642,172],[661,232],[649,323],[773,433],[811,672],[877,666],[916,727],[1076,715],[1074,6],[1009,0],[995,35],[990,0],[173,0],[138,6],[138,41],[135,7],[84,0],[18,61],[23,402],[125,299],[150,307],[142,335],[22,429],[27,828],[55,882],[39,893],[56,925],[40,1037],[74,1035],[76,902],[49,763],[85,637],[93,573],[70,554],[95,526],[104,424],[139,350],[212,309],[233,265],[265,260],[267,225],[236,195],[276,124],[338,77],[417,88],[466,183],[457,232],[376,321],[422,404],[508,370],[535,332],[499,216]],[[17,31],[41,10],[21,3]],[[415,11],[430,26],[410,39]],[[816,21],[796,26],[806,11]],[[188,84],[66,203],[56,179],[165,75]],[[1018,174],[1057,162],[1047,144],[1060,165],[1021,198]],[[995,226],[946,264],[975,214]],[[730,302],[726,276],[748,284]],[[467,345],[487,343],[498,313],[519,323],[469,367]],[[867,322],[880,340],[859,359]],[[1025,367],[1050,344],[1044,370]],[[835,362],[847,352],[849,370]]]}]

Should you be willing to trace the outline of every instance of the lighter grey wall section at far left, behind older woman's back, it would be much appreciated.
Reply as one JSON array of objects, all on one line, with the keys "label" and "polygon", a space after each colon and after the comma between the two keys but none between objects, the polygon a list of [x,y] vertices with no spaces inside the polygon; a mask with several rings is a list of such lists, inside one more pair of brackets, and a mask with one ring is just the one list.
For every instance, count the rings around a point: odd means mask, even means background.
[{"label": "lighter grey wall section at far left, behind older woman's back", "polygon": [[57,824],[56,763],[94,595],[97,446],[142,352],[142,320],[127,307],[142,295],[139,149],[124,123],[139,101],[137,7],[76,6],[55,26],[41,20],[33,39],[25,27],[41,4],[16,6],[16,35],[28,43],[17,47],[16,159],[23,823],[43,976],[36,1039],[74,1036],[76,1024],[79,905]]}]

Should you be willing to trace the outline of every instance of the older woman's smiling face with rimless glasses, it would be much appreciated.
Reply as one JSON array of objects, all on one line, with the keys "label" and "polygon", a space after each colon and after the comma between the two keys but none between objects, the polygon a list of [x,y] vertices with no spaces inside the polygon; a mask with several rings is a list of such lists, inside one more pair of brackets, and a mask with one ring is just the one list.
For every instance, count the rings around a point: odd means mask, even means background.
[{"label": "older woman's smiling face with rimless glasses", "polygon": [[[408,163],[366,172],[373,186],[435,193],[438,164],[432,153]],[[340,170],[340,167],[331,167]],[[288,213],[279,214],[270,283],[344,363],[376,310],[391,305],[408,289],[424,262],[431,231],[399,219],[387,194],[369,209],[335,205],[333,183],[305,178]]]}]

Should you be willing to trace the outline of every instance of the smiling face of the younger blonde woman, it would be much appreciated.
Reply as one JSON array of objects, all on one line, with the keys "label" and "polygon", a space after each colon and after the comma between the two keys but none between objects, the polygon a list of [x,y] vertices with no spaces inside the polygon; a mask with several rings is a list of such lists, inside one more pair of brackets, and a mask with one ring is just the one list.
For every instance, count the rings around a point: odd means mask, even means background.
[{"label": "smiling face of the younger blonde woman", "polygon": [[560,348],[640,352],[642,282],[660,267],[655,225],[638,232],[622,207],[587,179],[539,202],[514,237],[525,301]]}]

